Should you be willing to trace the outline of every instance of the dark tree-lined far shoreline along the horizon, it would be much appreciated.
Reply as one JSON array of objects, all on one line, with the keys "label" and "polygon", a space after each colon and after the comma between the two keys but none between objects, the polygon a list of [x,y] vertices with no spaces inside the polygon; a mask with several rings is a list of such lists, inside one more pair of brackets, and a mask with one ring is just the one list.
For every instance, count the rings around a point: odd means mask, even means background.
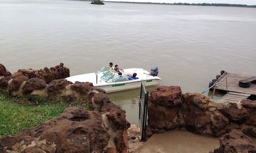
[{"label": "dark tree-lined far shoreline along the horizon", "polygon": [[[79,0],[79,1],[91,1],[91,0]],[[224,3],[153,3],[153,2],[129,2],[129,1],[108,1],[111,3],[132,3],[132,4],[160,4],[160,5],[191,5],[191,6],[219,6],[219,7],[237,7],[237,8],[256,8],[256,5],[245,4],[224,4]]]}]

